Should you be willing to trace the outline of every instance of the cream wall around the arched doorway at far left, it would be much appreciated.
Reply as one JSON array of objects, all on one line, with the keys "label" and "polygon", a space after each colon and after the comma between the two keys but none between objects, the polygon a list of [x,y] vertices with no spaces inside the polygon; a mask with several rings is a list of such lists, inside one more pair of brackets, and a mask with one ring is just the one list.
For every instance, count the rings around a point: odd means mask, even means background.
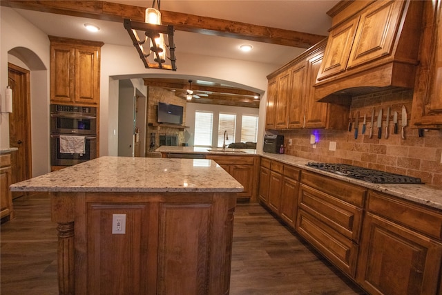
[{"label": "cream wall around the arched doorway at far left", "polygon": [[[30,69],[32,176],[50,171],[49,39],[15,10],[0,6],[0,94],[8,85],[8,59]],[[14,52],[16,57],[8,53]],[[23,55],[17,53],[24,53]],[[18,59],[18,60],[17,60]],[[9,115],[0,115],[0,148],[9,146]]]}]

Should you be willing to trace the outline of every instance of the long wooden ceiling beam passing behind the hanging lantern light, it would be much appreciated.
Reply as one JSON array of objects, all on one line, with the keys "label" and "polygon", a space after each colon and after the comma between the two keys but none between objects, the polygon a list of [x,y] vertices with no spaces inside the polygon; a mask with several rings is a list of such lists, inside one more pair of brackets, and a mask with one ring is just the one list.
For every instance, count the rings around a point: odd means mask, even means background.
[{"label": "long wooden ceiling beam passing behind the hanging lantern light", "polygon": [[[1,0],[1,6],[50,12],[74,17],[88,17],[104,21],[123,23],[123,19],[144,21],[144,10],[140,6],[111,3],[106,1],[31,1],[31,0]],[[197,32],[200,34],[217,35],[270,44],[309,48],[322,41],[325,36],[269,28],[265,26],[187,15],[181,12],[161,10],[162,23],[173,25],[175,30]]]}]

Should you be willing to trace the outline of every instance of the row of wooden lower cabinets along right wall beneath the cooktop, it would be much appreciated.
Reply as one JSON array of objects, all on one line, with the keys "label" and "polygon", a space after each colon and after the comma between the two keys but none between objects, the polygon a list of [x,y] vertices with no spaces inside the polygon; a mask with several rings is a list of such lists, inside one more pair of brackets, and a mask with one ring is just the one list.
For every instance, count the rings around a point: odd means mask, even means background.
[{"label": "row of wooden lower cabinets along right wall beneath the cooktop", "polygon": [[261,159],[259,201],[368,294],[442,295],[442,211]]}]

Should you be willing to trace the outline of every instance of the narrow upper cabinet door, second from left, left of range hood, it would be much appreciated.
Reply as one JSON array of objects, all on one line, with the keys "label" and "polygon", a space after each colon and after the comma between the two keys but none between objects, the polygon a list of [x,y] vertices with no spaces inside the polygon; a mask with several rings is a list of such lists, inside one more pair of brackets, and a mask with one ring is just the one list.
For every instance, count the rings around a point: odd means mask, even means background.
[{"label": "narrow upper cabinet door, second from left, left of range hood", "polygon": [[278,92],[276,95],[275,128],[287,129],[288,102],[290,98],[290,71],[278,76]]}]

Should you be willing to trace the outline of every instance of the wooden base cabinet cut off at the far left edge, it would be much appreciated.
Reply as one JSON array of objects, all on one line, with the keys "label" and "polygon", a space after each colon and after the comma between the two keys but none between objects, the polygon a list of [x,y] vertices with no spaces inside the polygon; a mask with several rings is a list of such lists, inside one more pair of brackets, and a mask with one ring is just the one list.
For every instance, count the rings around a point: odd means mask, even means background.
[{"label": "wooden base cabinet cut off at the far left edge", "polygon": [[0,155],[0,218],[10,220],[14,217],[12,193],[9,186],[12,184],[12,168],[10,153]]}]

